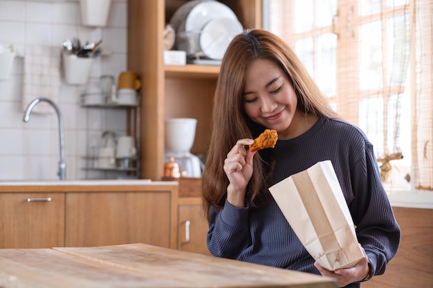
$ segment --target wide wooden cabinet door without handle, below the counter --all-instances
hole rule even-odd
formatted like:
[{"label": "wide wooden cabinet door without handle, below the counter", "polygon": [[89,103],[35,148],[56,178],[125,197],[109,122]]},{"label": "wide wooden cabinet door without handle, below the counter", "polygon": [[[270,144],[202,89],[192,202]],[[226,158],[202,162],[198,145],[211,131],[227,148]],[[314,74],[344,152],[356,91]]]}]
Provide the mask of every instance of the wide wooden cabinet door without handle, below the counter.
[{"label": "wide wooden cabinet door without handle, below the counter", "polygon": [[170,193],[68,193],[66,247],[145,243],[170,247]]}]

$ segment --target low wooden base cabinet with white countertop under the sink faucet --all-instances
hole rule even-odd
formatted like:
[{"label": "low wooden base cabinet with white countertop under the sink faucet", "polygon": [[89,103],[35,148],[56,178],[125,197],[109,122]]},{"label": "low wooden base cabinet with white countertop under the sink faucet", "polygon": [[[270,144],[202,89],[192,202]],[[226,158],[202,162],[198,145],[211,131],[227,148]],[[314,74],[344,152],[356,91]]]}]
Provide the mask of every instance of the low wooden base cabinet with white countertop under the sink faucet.
[{"label": "low wooden base cabinet with white countertop under the sink faucet", "polygon": [[176,182],[106,181],[0,185],[0,249],[138,242],[176,249]]}]

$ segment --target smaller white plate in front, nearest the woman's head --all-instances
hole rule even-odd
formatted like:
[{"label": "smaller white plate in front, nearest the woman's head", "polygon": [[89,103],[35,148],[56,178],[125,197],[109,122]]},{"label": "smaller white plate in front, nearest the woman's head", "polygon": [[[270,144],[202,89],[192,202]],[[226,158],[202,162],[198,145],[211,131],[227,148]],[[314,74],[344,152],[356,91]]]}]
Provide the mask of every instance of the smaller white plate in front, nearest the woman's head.
[{"label": "smaller white plate in front, nearest the woman's head", "polygon": [[200,47],[210,59],[223,59],[232,39],[243,31],[236,19],[215,18],[205,24],[200,36]]}]

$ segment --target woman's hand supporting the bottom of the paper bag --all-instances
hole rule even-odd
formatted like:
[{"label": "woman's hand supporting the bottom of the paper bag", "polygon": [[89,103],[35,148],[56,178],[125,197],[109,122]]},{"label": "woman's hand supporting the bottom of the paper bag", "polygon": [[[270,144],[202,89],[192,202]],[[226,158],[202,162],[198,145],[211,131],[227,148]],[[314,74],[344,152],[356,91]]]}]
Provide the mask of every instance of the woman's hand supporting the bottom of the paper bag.
[{"label": "woman's hand supporting the bottom of the paper bag", "polygon": [[367,258],[367,254],[362,247],[361,249],[365,257],[359,260],[359,262],[352,267],[329,271],[328,269],[324,269],[322,266],[320,266],[317,261],[314,263],[314,266],[320,271],[322,276],[335,278],[337,280],[338,286],[344,287],[346,285],[349,285],[350,283],[364,279],[369,273],[369,261]]}]

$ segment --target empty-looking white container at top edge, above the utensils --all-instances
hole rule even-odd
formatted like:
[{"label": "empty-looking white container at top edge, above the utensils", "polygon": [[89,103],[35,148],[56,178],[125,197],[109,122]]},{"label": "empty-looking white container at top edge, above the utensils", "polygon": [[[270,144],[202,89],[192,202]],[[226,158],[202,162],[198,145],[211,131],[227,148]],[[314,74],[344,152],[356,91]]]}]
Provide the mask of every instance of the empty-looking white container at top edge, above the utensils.
[{"label": "empty-looking white container at top edge, above the utensils", "polygon": [[111,0],[80,0],[82,24],[102,27],[107,24]]}]

